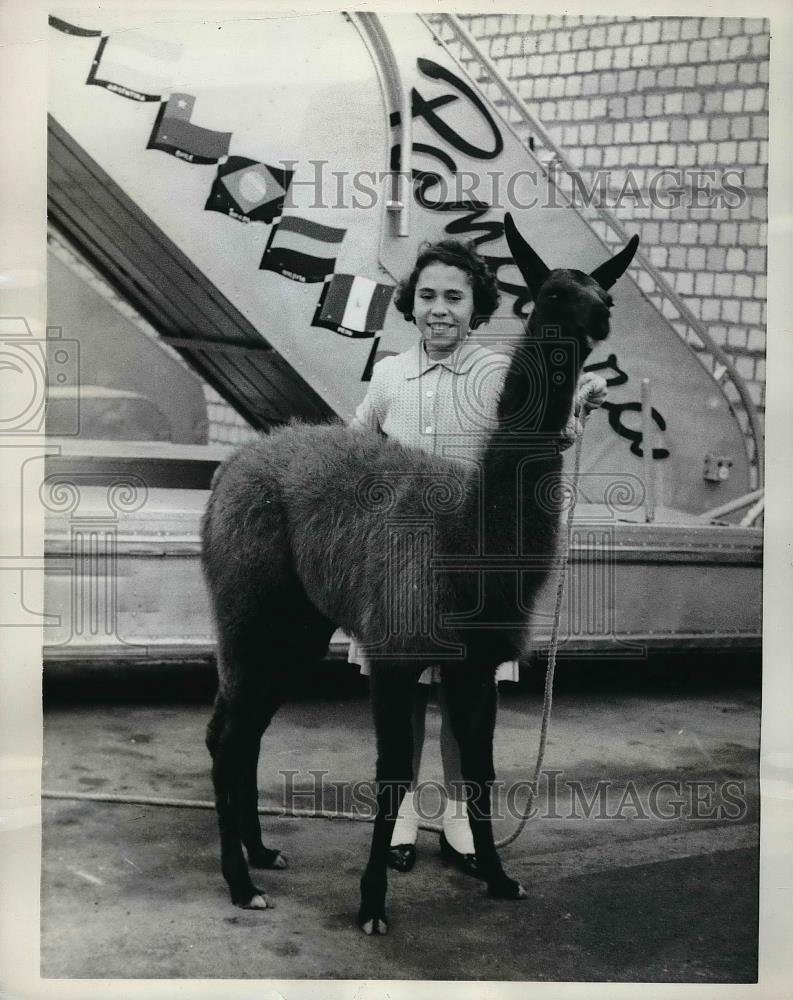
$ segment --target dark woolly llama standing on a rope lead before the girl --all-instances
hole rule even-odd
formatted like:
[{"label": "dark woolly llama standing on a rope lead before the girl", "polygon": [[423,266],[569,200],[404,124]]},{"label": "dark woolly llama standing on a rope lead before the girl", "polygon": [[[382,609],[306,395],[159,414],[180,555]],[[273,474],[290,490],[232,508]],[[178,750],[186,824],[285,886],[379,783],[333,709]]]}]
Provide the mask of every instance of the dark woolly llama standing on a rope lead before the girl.
[{"label": "dark woolly llama standing on a rope lead before the girl", "polygon": [[[221,868],[237,906],[268,905],[249,866],[287,866],[262,843],[261,737],[290,678],[324,656],[337,627],[374,650],[377,811],[358,925],[388,930],[387,851],[412,779],[411,703],[428,662],[441,663],[480,877],[491,896],[527,895],[502,867],[490,819],[495,670],[524,651],[527,615],[556,552],[560,434],[584,359],[609,332],[607,290],[638,238],[587,275],[550,270],[509,213],[504,225],[535,305],[478,466],[341,424],[293,423],[244,446],[213,481],[202,562],[219,686],[207,746]],[[389,524],[422,516],[432,544],[389,549]],[[428,627],[394,627],[394,608],[423,612]]]}]

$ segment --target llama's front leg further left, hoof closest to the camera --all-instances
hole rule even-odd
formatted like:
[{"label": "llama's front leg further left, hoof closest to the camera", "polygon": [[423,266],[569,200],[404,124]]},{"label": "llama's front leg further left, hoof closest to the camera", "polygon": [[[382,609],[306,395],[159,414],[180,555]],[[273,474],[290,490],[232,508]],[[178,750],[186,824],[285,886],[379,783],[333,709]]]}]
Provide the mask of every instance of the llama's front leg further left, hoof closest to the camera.
[{"label": "llama's front leg further left, hoof closest to the camera", "polygon": [[413,780],[412,703],[421,667],[374,664],[372,712],[377,734],[377,814],[369,860],[361,877],[358,926],[364,934],[387,934],[385,898],[388,848],[397,812]]}]

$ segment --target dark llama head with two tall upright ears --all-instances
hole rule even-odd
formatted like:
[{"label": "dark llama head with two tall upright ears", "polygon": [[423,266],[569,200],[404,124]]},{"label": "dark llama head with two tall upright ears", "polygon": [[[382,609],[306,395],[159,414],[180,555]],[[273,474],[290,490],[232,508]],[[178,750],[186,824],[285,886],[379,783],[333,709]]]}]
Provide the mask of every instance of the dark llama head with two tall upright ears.
[{"label": "dark llama head with two tall upright ears", "polygon": [[571,268],[549,268],[518,232],[509,212],[504,216],[504,233],[534,301],[529,332],[540,336],[544,328],[562,331],[579,340],[588,354],[608,336],[613,305],[608,290],[633,260],[639,237],[631,237],[618,254],[585,274]]}]

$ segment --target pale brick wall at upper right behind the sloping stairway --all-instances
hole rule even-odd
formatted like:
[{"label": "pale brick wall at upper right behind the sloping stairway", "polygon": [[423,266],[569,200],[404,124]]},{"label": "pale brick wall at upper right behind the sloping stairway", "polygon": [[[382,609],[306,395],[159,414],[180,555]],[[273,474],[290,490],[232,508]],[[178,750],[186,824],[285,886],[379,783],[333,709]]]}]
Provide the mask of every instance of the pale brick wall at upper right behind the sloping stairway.
[{"label": "pale brick wall at upper right behind the sloping stairway", "polygon": [[[739,207],[631,205],[642,238],[711,336],[765,399],[769,26],[761,18],[462,15],[580,171],[743,171]],[[465,59],[464,59],[465,61]],[[605,233],[605,230],[604,230]]]}]

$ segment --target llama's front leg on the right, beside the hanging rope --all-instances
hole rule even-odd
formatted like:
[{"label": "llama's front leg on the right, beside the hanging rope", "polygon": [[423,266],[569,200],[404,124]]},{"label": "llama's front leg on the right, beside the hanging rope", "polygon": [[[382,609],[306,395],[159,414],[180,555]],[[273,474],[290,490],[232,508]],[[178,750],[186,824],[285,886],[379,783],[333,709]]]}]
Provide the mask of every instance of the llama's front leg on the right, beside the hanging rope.
[{"label": "llama's front leg on the right, beside the hanging rope", "polygon": [[468,798],[474,850],[488,892],[498,899],[525,899],[526,890],[510,878],[496,851],[491,820],[493,733],[496,725],[495,670],[459,664],[444,667],[443,685]]}]

